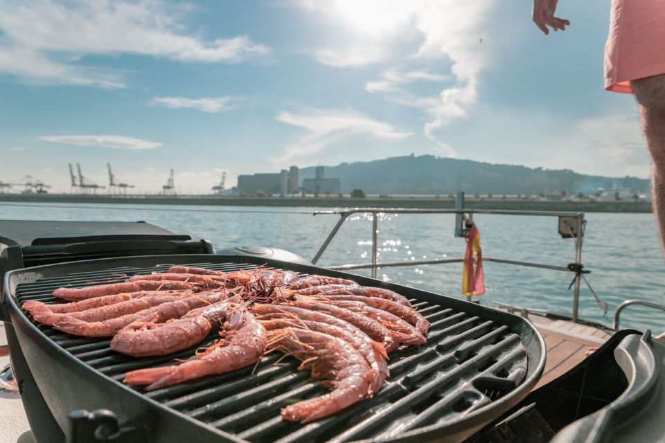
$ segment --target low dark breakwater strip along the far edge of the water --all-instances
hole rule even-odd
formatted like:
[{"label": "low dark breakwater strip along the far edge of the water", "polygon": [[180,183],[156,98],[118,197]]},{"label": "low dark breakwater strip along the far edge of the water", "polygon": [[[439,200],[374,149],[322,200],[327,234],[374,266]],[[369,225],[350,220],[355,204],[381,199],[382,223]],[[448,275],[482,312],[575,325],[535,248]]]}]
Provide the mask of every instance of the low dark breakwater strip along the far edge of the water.
[{"label": "low dark breakwater strip along the far edge of the water", "polygon": [[[41,204],[149,204],[195,206],[286,206],[325,208],[429,208],[453,209],[450,197],[392,196],[351,197],[231,197],[218,195],[73,195],[0,194],[1,202]],[[499,210],[556,210],[585,213],[650,213],[648,201],[566,201],[474,198],[467,196],[465,208]]]}]

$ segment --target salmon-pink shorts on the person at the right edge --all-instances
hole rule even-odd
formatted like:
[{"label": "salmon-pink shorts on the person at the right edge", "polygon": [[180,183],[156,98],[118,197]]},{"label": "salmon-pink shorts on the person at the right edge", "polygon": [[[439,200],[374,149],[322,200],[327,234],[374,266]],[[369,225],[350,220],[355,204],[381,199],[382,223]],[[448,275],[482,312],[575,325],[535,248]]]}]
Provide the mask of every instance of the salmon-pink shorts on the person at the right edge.
[{"label": "salmon-pink shorts on the person at the right edge", "polygon": [[665,0],[612,0],[605,89],[632,93],[630,80],[665,73]]}]

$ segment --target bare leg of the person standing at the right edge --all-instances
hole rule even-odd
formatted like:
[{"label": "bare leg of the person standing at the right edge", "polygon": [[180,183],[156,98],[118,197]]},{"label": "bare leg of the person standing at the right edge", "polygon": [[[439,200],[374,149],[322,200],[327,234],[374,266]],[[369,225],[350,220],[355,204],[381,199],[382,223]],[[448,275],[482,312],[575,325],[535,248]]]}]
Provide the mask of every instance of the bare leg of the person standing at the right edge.
[{"label": "bare leg of the person standing at the right edge", "polygon": [[665,75],[631,80],[642,134],[652,161],[651,195],[660,245],[665,255]]}]

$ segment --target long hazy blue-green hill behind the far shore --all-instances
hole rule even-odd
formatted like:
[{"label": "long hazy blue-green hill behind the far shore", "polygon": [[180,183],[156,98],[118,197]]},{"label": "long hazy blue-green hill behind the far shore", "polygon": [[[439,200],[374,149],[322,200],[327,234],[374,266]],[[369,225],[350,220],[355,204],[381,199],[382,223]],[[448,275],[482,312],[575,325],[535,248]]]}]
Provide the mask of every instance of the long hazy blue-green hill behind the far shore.
[{"label": "long hazy blue-green hill behind the far shore", "polygon": [[[649,182],[636,177],[600,177],[572,170],[546,170],[520,165],[497,165],[431,155],[401,156],[367,162],[326,166],[326,178],[339,178],[342,192],[362,189],[367,194],[447,195],[459,188],[468,194],[537,195],[583,192],[598,188],[627,188],[646,193]],[[314,167],[300,170],[300,178],[314,178]]]}]

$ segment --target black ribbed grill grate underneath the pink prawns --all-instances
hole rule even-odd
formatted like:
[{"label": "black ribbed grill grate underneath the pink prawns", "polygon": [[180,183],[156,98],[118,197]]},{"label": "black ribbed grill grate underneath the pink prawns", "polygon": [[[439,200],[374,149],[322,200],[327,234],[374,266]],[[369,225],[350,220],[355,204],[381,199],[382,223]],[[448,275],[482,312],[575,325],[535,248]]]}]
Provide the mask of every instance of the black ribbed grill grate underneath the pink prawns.
[{"label": "black ribbed grill grate underneath the pink prawns", "polygon": [[[111,282],[120,274],[166,271],[169,266],[123,266],[42,278],[19,284],[15,295],[19,305],[27,300],[60,302],[50,295],[57,287]],[[227,272],[257,267],[232,262],[188,266]],[[279,411],[286,404],[321,395],[327,389],[322,388],[319,381],[310,379],[308,371],[297,371],[299,362],[295,359],[289,357],[277,363],[281,357],[277,354],[265,356],[256,368],[244,368],[143,395],[248,442],[346,442],[391,439],[423,426],[459,422],[520,386],[526,375],[527,353],[520,336],[510,327],[428,301],[411,299],[411,303],[432,324],[427,343],[391,353],[391,377],[382,390],[333,417],[306,425],[281,419]],[[76,359],[118,382],[127,371],[168,364],[172,359],[193,355],[190,349],[169,356],[135,359],[112,351],[109,339],[73,337],[51,327],[35,325]],[[210,345],[216,337],[217,334],[211,334],[199,347]],[[136,390],[143,393],[141,388]]]}]

